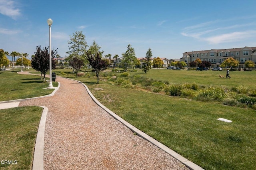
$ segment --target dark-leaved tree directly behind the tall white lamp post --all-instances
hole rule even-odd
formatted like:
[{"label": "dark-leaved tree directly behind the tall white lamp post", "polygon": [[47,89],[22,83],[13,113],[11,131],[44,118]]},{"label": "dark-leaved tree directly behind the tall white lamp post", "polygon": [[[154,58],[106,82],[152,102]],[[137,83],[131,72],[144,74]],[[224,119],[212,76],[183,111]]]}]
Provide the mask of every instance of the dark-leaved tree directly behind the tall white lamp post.
[{"label": "dark-leaved tree directly behind the tall white lamp post", "polygon": [[[52,50],[52,69],[55,69],[55,62],[54,57],[57,55],[57,50]],[[44,47],[41,49],[41,45],[36,47],[35,55],[31,59],[32,68],[41,72],[41,79],[42,75],[45,75],[47,71],[50,69],[50,54],[48,52],[48,48]]]}]

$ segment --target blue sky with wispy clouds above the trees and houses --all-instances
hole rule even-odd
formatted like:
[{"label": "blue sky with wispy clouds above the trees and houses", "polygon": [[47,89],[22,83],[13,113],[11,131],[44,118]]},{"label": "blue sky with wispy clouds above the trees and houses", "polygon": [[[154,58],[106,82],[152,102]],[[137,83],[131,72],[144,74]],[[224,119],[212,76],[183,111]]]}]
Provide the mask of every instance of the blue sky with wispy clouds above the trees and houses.
[{"label": "blue sky with wispy clouds above the trees and houses", "polygon": [[186,51],[256,46],[255,0],[0,0],[0,48],[33,55],[36,46],[65,57],[82,31],[105,54],[175,59]]}]

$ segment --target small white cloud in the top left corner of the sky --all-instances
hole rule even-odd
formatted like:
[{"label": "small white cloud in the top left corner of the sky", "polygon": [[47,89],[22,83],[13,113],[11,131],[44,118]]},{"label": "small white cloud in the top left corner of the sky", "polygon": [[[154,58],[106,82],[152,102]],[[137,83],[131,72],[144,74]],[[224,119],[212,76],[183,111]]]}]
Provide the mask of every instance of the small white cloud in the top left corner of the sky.
[{"label": "small white cloud in the top left corner of the sky", "polygon": [[0,0],[0,13],[14,20],[21,15],[20,9],[15,7],[13,0]]}]

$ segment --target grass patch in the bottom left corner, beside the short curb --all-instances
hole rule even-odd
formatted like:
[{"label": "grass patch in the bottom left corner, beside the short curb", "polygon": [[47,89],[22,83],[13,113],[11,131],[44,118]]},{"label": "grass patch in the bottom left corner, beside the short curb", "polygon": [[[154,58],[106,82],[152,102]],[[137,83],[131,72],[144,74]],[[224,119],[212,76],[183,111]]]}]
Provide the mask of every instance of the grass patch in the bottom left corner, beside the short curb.
[{"label": "grass patch in the bottom left corner, beside the short curb", "polygon": [[42,115],[41,107],[15,107],[0,110],[0,169],[32,169],[34,145]]}]

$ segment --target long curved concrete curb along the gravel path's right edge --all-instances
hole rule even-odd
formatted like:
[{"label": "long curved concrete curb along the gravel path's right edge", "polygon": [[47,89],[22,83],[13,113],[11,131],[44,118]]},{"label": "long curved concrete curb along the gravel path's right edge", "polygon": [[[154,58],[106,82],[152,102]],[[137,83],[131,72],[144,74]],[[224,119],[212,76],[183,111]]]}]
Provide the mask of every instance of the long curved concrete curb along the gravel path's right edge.
[{"label": "long curved concrete curb along the gravel path's right edge", "polygon": [[[64,77],[65,78],[65,77]],[[67,78],[69,79],[69,78]],[[70,80],[74,80],[74,79],[70,79]],[[177,160],[179,160],[180,162],[182,162],[182,164],[186,165],[188,168],[192,169],[192,170],[204,170],[203,168],[201,168],[200,166],[198,166],[197,164],[194,164],[193,162],[191,162],[190,160],[184,158],[183,156],[181,156],[180,154],[174,152],[173,150],[171,150],[170,148],[168,148],[167,146],[165,146],[164,144],[158,142],[157,140],[155,140],[154,138],[152,138],[151,136],[148,136],[146,133],[142,132],[141,130],[139,130],[138,128],[132,126],[130,123],[126,122],[124,119],[122,119],[121,117],[119,117],[118,115],[116,115],[114,112],[110,111],[107,107],[105,107],[104,105],[102,105],[95,97],[94,95],[92,95],[91,91],[88,89],[88,87],[82,83],[81,81],[78,80],[74,80],[77,81],[79,83],[81,83],[82,85],[84,85],[84,87],[86,88],[88,94],[90,95],[90,97],[92,98],[92,100],[98,105],[100,106],[102,109],[104,109],[106,112],[108,112],[112,117],[114,117],[114,119],[120,121],[123,125],[125,125],[126,127],[128,127],[130,130],[132,130],[132,132],[135,132],[138,136],[144,138],[145,140],[148,140],[148,142],[154,144],[155,146],[157,146],[158,148],[164,150],[165,152],[167,152],[168,154],[170,154],[171,156],[173,156],[174,158],[176,158]]]}]

